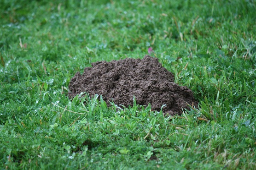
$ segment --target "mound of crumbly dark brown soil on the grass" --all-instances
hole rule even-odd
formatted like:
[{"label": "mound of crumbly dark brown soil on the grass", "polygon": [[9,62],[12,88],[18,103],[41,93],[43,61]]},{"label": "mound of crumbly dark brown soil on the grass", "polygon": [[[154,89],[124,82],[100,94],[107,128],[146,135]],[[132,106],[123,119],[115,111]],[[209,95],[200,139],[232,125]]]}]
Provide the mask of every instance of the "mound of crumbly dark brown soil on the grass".
[{"label": "mound of crumbly dark brown soil on the grass", "polygon": [[135,96],[137,104],[150,103],[152,110],[160,111],[166,104],[163,112],[170,115],[180,114],[181,108],[188,109],[187,104],[198,104],[192,91],[177,85],[174,75],[149,55],[142,60],[127,58],[92,63],[92,67],[86,67],[82,74],[76,73],[70,80],[69,89],[71,98],[81,92],[88,92],[90,96],[99,94],[109,106],[108,101],[132,106]]}]

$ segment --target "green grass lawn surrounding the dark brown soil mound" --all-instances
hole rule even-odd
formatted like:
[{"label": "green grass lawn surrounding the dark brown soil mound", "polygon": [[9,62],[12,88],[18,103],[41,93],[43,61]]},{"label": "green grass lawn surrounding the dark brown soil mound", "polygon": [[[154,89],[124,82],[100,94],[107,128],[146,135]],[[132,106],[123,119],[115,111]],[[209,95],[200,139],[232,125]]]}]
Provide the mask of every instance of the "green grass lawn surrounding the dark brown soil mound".
[{"label": "green grass lawn surrounding the dark brown soil mound", "polygon": [[[255,0],[1,0],[3,169],[256,169]],[[199,109],[67,97],[92,62],[154,49]],[[85,104],[83,104],[85,102]]]}]

